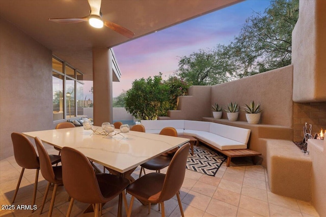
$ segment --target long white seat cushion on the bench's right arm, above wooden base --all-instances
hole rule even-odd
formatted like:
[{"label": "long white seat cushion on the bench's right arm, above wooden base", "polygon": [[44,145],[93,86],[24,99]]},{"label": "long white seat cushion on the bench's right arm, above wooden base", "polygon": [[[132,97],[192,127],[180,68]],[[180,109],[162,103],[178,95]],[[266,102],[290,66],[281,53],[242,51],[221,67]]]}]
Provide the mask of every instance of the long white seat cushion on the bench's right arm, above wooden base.
[{"label": "long white seat cushion on the bench's right arm, above wooden base", "polygon": [[204,131],[184,130],[184,135],[194,136],[220,150],[246,149],[247,144]]}]

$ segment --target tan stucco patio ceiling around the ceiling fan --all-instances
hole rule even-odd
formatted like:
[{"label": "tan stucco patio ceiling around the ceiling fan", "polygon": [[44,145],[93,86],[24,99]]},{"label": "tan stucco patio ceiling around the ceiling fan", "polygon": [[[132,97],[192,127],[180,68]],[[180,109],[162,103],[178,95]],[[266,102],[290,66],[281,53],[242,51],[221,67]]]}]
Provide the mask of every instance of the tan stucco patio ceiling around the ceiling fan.
[{"label": "tan stucco patio ceiling around the ceiling fan", "polygon": [[[131,39],[134,40],[241,1],[102,0],[101,12],[104,20],[122,25],[135,33]],[[89,11],[87,0],[0,1],[1,17],[82,71],[85,80],[92,80],[93,47],[114,47],[130,40],[110,28],[96,29],[87,22],[59,24],[47,20],[84,17]]]}]

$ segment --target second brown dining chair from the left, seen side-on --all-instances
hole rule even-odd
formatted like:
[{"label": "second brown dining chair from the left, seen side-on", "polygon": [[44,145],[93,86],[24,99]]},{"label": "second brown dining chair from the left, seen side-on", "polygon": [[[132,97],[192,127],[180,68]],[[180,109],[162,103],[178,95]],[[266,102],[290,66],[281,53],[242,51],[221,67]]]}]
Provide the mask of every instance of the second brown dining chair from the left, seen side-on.
[{"label": "second brown dining chair from the left, seen side-on", "polygon": [[39,152],[41,173],[42,173],[43,178],[45,180],[47,180],[47,185],[46,185],[46,189],[45,189],[45,193],[44,193],[44,197],[43,197],[40,214],[42,214],[42,212],[43,212],[44,204],[46,201],[47,193],[49,192],[50,185],[55,184],[55,186],[53,188],[52,199],[51,199],[49,213],[48,213],[48,216],[50,217],[52,215],[53,206],[55,205],[55,199],[56,199],[58,185],[63,184],[62,166],[52,167],[48,153],[45,150],[40,138],[35,137],[35,144],[37,147],[37,151]]}]

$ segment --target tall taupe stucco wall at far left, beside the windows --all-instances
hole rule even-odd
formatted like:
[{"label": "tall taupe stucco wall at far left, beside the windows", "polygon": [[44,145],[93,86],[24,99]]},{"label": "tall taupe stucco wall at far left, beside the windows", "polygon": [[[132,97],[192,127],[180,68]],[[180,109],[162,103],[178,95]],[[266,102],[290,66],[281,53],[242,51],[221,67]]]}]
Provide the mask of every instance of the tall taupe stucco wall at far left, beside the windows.
[{"label": "tall taupe stucco wall at far left, beside the windows", "polygon": [[11,133],[53,128],[52,53],[0,18],[0,159]]}]

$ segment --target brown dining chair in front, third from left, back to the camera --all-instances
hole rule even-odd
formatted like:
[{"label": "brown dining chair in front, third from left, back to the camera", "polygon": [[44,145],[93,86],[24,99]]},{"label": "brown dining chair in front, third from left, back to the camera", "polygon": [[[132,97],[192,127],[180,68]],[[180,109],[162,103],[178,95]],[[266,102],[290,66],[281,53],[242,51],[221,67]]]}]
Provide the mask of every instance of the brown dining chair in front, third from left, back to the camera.
[{"label": "brown dining chair in front, third from left, back to the camera", "polygon": [[73,148],[62,148],[63,183],[71,197],[67,216],[70,216],[74,200],[95,204],[95,216],[102,214],[102,204],[119,195],[118,215],[121,214],[122,198],[126,206],[127,200],[122,192],[129,185],[129,180],[122,176],[107,173],[95,174],[90,161],[85,155]]}]

